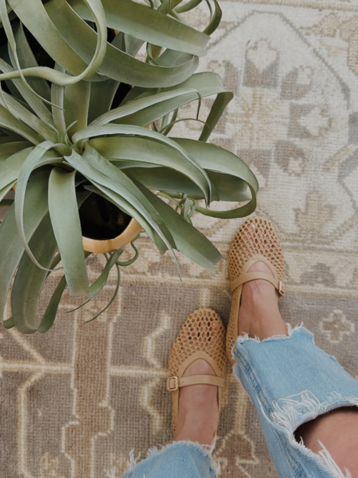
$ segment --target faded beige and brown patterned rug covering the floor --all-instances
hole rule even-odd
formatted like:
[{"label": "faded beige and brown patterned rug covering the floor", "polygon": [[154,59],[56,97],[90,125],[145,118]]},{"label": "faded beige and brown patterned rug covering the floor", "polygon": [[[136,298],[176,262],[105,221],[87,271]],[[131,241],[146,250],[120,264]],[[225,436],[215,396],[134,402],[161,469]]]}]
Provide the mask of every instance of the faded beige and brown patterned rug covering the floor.
[{"label": "faded beige and brown patterned rug covering the floor", "polygon": [[[304,321],[358,378],[358,2],[221,7],[201,69],[220,72],[235,98],[211,141],[257,174],[257,213],[273,222],[287,261],[284,318]],[[176,134],[198,131],[180,123]],[[115,275],[78,312],[66,314],[78,304],[66,295],[45,336],[1,329],[1,478],[103,478],[111,467],[120,477],[132,448],[143,456],[171,440],[169,350],[193,309],[211,306],[227,323],[226,257],[242,220],[196,222],[225,258],[215,276],[180,256],[180,283],[170,257],[142,237],[140,259],[100,319],[84,324],[108,301]],[[229,374],[224,405],[215,450],[222,476],[276,477],[253,405]]]}]

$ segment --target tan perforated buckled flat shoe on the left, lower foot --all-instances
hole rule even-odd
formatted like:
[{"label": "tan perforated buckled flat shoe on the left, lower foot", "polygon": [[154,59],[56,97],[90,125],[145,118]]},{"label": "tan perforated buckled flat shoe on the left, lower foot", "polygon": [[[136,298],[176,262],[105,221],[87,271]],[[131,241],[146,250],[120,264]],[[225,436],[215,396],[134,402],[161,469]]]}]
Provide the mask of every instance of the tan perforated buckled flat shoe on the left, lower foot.
[{"label": "tan perforated buckled flat shoe on the left, lower foot", "polygon": [[[217,326],[214,326],[213,323]],[[197,359],[206,360],[215,375],[190,375],[183,373]],[[187,385],[206,383],[218,387],[218,408],[220,413],[221,391],[224,386],[225,369],[225,328],[220,315],[211,309],[195,310],[189,315],[175,339],[169,358],[167,390],[173,399],[173,433],[177,428],[179,412],[179,389]],[[216,431],[214,436],[216,435]]]}]

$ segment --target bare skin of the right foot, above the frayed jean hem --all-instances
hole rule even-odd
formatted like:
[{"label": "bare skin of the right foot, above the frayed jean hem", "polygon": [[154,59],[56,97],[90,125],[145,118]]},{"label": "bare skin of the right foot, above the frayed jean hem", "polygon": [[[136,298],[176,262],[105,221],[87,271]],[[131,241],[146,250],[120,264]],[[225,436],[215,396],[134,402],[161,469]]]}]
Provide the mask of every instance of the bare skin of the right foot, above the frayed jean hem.
[{"label": "bare skin of the right foot, above the frayed jean hem", "polygon": [[[264,262],[256,262],[248,272],[265,272],[272,275]],[[274,286],[263,279],[246,282],[242,286],[239,310],[239,335],[263,340],[274,335],[288,335],[287,326],[278,310]]]}]

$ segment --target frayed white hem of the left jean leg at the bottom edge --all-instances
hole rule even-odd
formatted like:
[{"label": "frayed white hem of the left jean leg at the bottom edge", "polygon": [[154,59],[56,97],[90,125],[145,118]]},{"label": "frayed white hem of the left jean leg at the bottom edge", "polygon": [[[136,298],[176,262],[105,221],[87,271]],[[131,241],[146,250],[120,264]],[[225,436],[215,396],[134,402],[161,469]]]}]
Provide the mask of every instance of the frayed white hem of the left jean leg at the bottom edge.
[{"label": "frayed white hem of the left jean leg at the bottom edge", "polygon": [[[160,445],[160,450],[158,449],[157,446],[152,446],[151,448],[148,449],[147,451],[147,456],[143,459],[143,461],[152,458],[153,456],[156,455],[161,455],[163,454],[166,450],[169,448],[173,448],[175,446],[194,446],[197,450],[199,450],[204,456],[207,456],[210,459],[210,467],[212,470],[214,470],[216,476],[219,475],[220,473],[220,463],[216,460],[213,459],[212,457],[212,452],[215,448],[216,441],[218,439],[218,436],[215,436],[215,438],[212,440],[211,445],[201,445],[199,442],[191,442],[190,440],[180,440],[180,441],[173,441],[172,443],[169,443],[168,445]],[[125,472],[128,473],[128,471],[132,470],[134,467],[136,467],[140,463],[140,453],[138,456],[135,458],[134,457],[134,448],[129,452],[129,460],[127,461],[127,470]],[[115,468],[112,468],[111,474],[105,475],[105,478],[119,478],[116,477],[116,470]],[[143,478],[146,478],[145,476]]]}]

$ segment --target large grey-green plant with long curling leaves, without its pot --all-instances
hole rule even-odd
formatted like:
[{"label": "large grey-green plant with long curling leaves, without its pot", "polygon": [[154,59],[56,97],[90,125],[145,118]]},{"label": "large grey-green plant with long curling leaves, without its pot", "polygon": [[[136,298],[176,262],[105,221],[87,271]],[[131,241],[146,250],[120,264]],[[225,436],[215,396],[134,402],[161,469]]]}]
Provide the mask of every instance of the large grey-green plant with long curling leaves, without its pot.
[{"label": "large grey-green plant with long curling leaves, without its pot", "polygon": [[[0,205],[10,205],[0,227],[1,321],[13,280],[5,326],[45,332],[66,284],[94,299],[121,264],[122,250],[110,254],[89,285],[78,209],[90,194],[137,219],[160,253],[177,261],[179,250],[211,272],[221,255],[192,226],[193,212],[254,210],[253,173],[206,143],[232,99],[219,75],[194,74],[221,18],[217,1],[206,2],[210,22],[199,32],[181,15],[200,0],[0,0]],[[133,87],[116,105],[123,84]],[[209,95],[199,141],[169,138],[178,109]],[[248,202],[217,211],[212,200]],[[40,293],[60,261],[63,278],[38,326]]]}]

